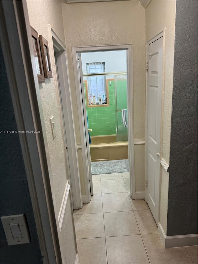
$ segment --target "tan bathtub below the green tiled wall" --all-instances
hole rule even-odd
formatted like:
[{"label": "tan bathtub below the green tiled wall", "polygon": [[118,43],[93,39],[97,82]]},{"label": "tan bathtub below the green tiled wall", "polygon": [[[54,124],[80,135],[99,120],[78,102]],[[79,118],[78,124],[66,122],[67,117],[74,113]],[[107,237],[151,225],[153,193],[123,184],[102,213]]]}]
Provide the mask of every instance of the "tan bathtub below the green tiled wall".
[{"label": "tan bathtub below the green tiled wall", "polygon": [[91,161],[128,159],[128,141],[116,142],[116,135],[91,136]]}]

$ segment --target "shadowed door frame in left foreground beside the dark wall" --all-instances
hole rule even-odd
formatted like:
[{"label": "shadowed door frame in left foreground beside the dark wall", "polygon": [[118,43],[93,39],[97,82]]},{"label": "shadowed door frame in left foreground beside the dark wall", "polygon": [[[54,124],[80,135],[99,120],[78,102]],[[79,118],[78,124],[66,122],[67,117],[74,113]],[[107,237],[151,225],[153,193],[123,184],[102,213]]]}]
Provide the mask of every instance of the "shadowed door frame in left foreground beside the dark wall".
[{"label": "shadowed door frame in left foreground beside the dark wall", "polygon": [[[0,2],[0,36],[44,263],[62,263],[51,167],[26,1]],[[49,162],[49,163],[48,163]]]}]

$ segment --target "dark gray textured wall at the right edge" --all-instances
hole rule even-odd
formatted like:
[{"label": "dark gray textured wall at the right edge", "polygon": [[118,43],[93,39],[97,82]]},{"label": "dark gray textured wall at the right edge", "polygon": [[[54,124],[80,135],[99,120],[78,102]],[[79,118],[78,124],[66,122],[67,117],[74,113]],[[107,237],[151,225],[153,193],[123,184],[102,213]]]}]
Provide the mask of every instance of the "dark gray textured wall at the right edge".
[{"label": "dark gray textured wall at the right edge", "polygon": [[197,233],[197,1],[177,1],[167,236]]}]

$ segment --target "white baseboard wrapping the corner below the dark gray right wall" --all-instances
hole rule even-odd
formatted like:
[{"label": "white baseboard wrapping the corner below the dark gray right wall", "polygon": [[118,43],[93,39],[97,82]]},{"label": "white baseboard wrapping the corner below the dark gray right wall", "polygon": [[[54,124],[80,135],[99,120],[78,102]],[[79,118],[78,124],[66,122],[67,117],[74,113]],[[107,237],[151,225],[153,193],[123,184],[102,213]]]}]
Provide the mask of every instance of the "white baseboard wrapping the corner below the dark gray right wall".
[{"label": "white baseboard wrapping the corner below the dark gray right wall", "polygon": [[158,233],[159,233],[161,242],[164,245],[165,249],[196,246],[198,244],[197,243],[198,234],[166,236],[160,223],[158,224]]}]

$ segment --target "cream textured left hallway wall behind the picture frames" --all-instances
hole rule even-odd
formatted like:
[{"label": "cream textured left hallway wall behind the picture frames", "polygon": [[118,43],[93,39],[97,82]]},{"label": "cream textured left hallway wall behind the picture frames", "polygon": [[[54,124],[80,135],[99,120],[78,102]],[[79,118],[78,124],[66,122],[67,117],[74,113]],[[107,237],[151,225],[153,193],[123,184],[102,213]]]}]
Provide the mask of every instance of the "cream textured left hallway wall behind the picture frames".
[{"label": "cream textured left hallway wall behind the picture frames", "polygon": [[[54,49],[51,35],[51,27],[64,43],[64,30],[62,22],[62,10],[60,1],[27,1],[30,25],[37,30],[39,35],[45,37],[49,45],[53,78],[45,79],[45,83],[39,84],[45,129],[49,148],[49,156],[53,182],[51,186],[55,193],[55,206],[58,215],[63,193],[68,179],[67,154],[62,124],[61,106],[58,92],[58,83],[55,68]],[[49,118],[54,116],[56,137],[53,139]],[[61,230],[61,248],[63,263],[75,263],[76,245],[73,216],[71,212],[70,195],[67,201],[66,211]],[[67,249],[67,252],[65,251]],[[72,260],[72,261],[71,261]]]}]

